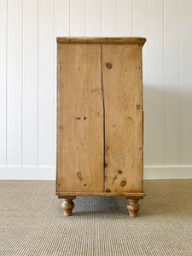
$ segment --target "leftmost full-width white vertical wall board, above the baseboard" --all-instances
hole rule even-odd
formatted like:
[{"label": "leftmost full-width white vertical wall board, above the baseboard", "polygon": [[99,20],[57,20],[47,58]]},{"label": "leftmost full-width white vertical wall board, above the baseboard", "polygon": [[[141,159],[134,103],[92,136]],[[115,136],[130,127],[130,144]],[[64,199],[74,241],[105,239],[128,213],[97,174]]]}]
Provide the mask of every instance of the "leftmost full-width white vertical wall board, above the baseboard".
[{"label": "leftmost full-width white vertical wall board, above the baseboard", "polygon": [[7,164],[21,165],[22,1],[8,3]]}]

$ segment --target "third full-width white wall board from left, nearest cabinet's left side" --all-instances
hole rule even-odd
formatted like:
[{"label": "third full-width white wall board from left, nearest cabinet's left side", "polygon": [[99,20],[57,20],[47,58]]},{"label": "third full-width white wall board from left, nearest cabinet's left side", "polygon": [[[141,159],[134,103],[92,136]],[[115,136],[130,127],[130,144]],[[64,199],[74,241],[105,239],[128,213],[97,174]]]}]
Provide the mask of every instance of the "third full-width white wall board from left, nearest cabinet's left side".
[{"label": "third full-width white wall board from left, nearest cabinet's left side", "polygon": [[38,164],[53,166],[54,1],[39,0]]}]

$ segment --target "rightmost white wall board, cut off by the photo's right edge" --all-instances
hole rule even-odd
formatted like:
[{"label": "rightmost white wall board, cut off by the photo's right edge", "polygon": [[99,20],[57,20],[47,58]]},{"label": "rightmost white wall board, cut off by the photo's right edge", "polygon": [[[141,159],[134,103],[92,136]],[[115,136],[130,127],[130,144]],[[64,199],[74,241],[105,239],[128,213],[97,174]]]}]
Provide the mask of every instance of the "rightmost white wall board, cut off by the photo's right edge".
[{"label": "rightmost white wall board, cut off by the photo's right edge", "polygon": [[192,162],[192,2],[183,0],[180,3],[180,108],[181,108],[181,165]]}]

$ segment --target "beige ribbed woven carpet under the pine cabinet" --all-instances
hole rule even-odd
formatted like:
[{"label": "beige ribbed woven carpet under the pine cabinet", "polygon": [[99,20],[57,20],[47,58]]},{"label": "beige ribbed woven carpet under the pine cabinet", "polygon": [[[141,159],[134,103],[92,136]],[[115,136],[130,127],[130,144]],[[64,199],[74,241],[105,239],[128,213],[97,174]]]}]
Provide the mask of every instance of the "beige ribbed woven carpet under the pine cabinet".
[{"label": "beige ribbed woven carpet under the pine cabinet", "polygon": [[145,181],[125,198],[78,197],[64,217],[53,181],[0,182],[0,255],[192,255],[192,180]]}]

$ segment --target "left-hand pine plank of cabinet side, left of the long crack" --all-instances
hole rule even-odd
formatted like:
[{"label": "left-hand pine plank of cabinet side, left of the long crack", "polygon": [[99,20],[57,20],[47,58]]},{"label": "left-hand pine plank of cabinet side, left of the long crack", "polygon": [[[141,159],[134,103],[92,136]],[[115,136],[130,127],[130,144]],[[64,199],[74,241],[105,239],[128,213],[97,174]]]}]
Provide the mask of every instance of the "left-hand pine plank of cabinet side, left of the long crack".
[{"label": "left-hand pine plank of cabinet side, left of the long crack", "polygon": [[103,191],[101,44],[58,44],[57,191]]}]

